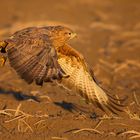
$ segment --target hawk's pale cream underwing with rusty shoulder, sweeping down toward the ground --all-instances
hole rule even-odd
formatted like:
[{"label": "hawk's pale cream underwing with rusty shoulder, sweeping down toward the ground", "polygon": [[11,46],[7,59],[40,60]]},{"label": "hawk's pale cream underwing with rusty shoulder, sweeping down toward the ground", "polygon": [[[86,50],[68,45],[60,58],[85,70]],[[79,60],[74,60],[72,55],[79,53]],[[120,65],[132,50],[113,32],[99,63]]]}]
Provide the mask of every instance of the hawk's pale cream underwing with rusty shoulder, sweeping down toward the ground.
[{"label": "hawk's pale cream underwing with rusty shoulder, sweeping down toward the ground", "polygon": [[58,62],[66,74],[67,79],[62,79],[59,84],[76,91],[87,102],[93,103],[103,111],[110,110],[113,113],[122,111],[122,105],[117,103],[117,99],[106,94],[96,83],[92,71],[88,68],[83,57],[70,46],[59,50]]}]

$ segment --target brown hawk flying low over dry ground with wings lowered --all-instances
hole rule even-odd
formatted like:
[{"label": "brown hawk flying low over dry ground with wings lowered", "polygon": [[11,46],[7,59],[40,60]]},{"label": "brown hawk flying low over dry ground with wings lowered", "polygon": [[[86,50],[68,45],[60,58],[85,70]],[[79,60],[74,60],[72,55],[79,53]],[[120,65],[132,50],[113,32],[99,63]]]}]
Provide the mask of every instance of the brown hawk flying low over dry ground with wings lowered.
[{"label": "brown hawk flying low over dry ground with wings lowered", "polygon": [[27,83],[43,85],[56,81],[104,112],[122,111],[123,105],[97,84],[83,55],[68,44],[75,36],[76,33],[63,26],[29,27],[2,41],[0,48]]}]

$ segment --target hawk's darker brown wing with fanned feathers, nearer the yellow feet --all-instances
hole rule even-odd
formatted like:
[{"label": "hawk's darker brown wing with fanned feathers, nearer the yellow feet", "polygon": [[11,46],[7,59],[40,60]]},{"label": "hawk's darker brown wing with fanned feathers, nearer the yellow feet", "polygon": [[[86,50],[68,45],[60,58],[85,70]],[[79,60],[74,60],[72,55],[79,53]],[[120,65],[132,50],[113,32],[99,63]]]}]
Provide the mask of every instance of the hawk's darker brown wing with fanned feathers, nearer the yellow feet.
[{"label": "hawk's darker brown wing with fanned feathers, nearer the yellow feet", "polygon": [[10,65],[29,84],[42,85],[65,76],[49,37],[37,28],[23,29],[6,41]]}]

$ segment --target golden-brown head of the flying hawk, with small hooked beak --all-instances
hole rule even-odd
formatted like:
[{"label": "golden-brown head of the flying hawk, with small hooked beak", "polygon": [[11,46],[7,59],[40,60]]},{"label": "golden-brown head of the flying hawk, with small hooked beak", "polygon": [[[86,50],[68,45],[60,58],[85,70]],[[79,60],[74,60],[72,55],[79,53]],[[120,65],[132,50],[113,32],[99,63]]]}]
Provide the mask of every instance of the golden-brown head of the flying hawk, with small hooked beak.
[{"label": "golden-brown head of the flying hawk, with small hooked beak", "polygon": [[49,30],[50,38],[57,46],[64,45],[77,36],[70,28],[64,26],[51,26]]}]

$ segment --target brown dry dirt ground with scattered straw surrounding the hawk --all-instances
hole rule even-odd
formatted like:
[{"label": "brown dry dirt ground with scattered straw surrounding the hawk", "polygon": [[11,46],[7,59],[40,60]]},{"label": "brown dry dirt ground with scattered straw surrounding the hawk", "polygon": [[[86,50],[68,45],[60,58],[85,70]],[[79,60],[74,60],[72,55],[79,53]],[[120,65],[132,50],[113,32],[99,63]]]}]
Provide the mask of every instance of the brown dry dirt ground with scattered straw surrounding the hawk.
[{"label": "brown dry dirt ground with scattered straw surrounding the hawk", "polygon": [[0,40],[58,24],[77,32],[70,44],[128,107],[106,116],[55,85],[27,85],[7,62],[0,67],[0,140],[140,140],[140,1],[1,0]]}]

